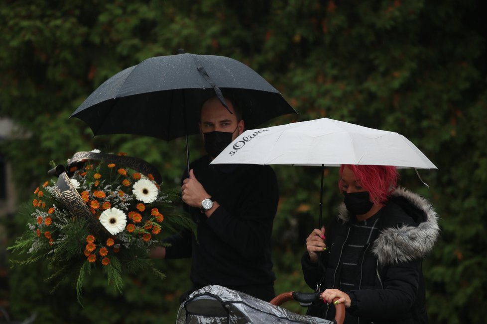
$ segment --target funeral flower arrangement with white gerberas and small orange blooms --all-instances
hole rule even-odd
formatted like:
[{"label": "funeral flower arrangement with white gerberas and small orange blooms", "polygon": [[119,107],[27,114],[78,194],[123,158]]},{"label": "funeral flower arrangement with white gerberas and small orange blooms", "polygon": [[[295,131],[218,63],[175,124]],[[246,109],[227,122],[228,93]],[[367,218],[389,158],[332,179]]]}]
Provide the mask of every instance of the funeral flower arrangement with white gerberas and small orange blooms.
[{"label": "funeral flower arrangement with white gerberas and small orange blooms", "polygon": [[179,192],[163,192],[157,170],[140,159],[78,152],[67,167],[49,173],[58,178],[36,188],[32,203],[24,206],[31,218],[9,247],[17,254],[11,261],[25,265],[47,259],[47,280],[71,278],[78,299],[93,269],[105,271],[119,292],[125,271],[148,269],[164,278],[149,258],[150,249],[164,246],[164,230],[194,230],[190,218],[175,213]]}]

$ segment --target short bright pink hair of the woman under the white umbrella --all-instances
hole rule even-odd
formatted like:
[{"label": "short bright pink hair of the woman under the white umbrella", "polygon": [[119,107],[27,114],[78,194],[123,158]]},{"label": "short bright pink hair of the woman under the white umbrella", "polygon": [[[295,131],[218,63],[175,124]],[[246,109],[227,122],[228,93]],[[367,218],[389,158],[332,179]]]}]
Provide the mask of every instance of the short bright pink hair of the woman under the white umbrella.
[{"label": "short bright pink hair of the woman under the white umbrella", "polygon": [[[383,206],[397,186],[399,174],[395,166],[342,164],[340,177],[345,166],[354,172],[357,182],[368,191],[375,205]],[[342,181],[338,181],[338,187],[342,190]]]}]

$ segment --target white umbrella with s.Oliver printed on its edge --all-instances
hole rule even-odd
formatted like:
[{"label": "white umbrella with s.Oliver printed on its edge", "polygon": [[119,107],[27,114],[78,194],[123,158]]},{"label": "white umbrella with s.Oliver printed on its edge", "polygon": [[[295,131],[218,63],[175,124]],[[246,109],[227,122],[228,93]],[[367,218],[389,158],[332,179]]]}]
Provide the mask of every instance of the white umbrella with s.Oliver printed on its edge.
[{"label": "white umbrella with s.Oliver printed on its edge", "polygon": [[329,118],[247,130],[211,162],[228,163],[323,167],[365,164],[437,169],[413,143],[398,133]]}]

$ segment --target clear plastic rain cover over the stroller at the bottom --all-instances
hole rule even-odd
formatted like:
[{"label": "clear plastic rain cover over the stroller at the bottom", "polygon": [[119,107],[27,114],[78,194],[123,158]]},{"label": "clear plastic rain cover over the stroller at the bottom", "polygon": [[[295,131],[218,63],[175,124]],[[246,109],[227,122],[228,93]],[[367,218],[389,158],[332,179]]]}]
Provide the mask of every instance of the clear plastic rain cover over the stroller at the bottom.
[{"label": "clear plastic rain cover over the stroller at the bottom", "polygon": [[250,323],[333,324],[320,318],[292,313],[222,286],[206,286],[194,291],[179,307],[176,320],[176,324]]}]

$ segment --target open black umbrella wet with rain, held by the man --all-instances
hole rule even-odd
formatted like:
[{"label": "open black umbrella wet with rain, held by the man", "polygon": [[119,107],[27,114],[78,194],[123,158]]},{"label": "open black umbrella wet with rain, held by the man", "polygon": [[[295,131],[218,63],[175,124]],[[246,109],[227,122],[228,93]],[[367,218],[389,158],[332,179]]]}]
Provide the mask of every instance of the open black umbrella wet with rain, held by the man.
[{"label": "open black umbrella wet with rain, held by the man", "polygon": [[[226,106],[222,91],[241,105],[246,128],[296,113],[277,89],[243,63],[187,53],[152,57],[117,73],[71,117],[85,121],[95,135],[172,140],[198,134],[203,102],[217,95]],[[187,160],[189,166],[189,156]]]}]

